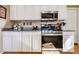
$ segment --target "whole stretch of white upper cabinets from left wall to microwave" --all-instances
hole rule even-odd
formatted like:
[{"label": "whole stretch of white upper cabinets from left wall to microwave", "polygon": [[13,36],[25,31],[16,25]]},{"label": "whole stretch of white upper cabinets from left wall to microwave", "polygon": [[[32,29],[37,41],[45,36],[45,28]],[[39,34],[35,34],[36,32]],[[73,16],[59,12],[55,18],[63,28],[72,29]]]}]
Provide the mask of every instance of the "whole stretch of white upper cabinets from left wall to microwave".
[{"label": "whole stretch of white upper cabinets from left wall to microwave", "polygon": [[40,7],[32,5],[10,6],[11,20],[38,20],[41,18]]}]

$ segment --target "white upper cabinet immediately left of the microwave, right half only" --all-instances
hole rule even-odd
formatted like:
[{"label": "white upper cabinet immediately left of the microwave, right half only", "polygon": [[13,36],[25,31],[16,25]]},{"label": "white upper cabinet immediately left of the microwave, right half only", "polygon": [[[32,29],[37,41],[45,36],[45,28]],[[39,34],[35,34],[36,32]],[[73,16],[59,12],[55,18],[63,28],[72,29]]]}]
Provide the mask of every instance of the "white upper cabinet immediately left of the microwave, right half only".
[{"label": "white upper cabinet immediately left of the microwave, right half only", "polygon": [[40,20],[41,19],[41,13],[40,13],[40,7],[39,6],[33,6],[33,5],[25,5],[24,6],[24,19],[25,20]]}]

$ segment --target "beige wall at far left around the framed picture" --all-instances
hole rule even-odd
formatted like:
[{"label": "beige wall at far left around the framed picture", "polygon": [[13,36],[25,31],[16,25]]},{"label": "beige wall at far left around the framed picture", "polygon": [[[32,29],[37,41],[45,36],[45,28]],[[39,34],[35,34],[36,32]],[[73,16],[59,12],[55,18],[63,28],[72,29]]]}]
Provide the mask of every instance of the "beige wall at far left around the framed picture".
[{"label": "beige wall at far left around the framed picture", "polygon": [[1,30],[2,28],[5,27],[6,23],[9,20],[9,16],[10,16],[10,6],[9,5],[3,5],[3,6],[7,8],[7,16],[6,16],[6,19],[0,18],[0,50],[2,47],[2,31]]}]

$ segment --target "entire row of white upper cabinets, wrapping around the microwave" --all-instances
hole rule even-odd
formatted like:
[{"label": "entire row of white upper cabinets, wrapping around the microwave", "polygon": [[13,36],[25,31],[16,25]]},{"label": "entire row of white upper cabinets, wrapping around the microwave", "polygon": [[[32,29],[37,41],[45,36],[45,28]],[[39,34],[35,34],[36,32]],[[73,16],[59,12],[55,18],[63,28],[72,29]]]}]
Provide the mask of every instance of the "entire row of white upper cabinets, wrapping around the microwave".
[{"label": "entire row of white upper cabinets, wrapping around the microwave", "polygon": [[11,5],[10,20],[41,20],[43,11],[58,11],[59,19],[66,19],[64,5]]}]

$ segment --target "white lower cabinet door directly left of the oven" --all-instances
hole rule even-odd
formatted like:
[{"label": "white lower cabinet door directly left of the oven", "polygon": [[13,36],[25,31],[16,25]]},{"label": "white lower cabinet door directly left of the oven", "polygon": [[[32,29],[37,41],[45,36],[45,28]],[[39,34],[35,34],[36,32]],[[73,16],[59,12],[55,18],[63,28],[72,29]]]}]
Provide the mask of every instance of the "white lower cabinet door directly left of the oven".
[{"label": "white lower cabinet door directly left of the oven", "polygon": [[41,52],[41,31],[32,33],[32,51]]}]

